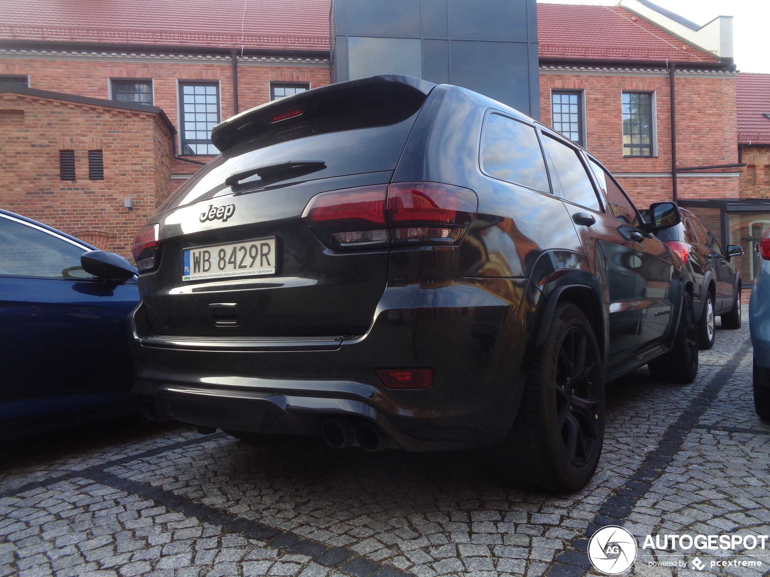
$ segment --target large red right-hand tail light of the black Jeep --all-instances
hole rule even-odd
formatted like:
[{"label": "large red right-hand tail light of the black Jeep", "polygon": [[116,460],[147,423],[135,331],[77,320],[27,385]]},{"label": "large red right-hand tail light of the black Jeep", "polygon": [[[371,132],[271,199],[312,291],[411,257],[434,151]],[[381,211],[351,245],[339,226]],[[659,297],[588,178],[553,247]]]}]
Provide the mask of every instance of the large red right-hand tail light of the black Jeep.
[{"label": "large red right-hand tail light of the black Jeep", "polygon": [[395,182],[323,192],[302,215],[333,248],[453,245],[476,215],[470,188],[437,182]]}]

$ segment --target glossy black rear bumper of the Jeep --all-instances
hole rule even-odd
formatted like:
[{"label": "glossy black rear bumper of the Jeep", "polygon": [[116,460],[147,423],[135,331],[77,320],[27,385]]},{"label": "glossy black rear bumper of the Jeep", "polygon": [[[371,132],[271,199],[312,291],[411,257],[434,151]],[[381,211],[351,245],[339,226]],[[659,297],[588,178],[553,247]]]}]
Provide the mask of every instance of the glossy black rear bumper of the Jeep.
[{"label": "glossy black rear bumper of the Jeep", "polygon": [[[158,337],[139,305],[133,393],[150,418],[216,429],[318,435],[324,419],[342,418],[376,424],[410,451],[489,445],[513,425],[526,342],[527,283],[496,280],[515,299],[470,284],[388,288],[370,331],[353,339]],[[443,306],[414,307],[421,298]],[[387,389],[374,372],[387,367],[429,367],[433,385]]]}]

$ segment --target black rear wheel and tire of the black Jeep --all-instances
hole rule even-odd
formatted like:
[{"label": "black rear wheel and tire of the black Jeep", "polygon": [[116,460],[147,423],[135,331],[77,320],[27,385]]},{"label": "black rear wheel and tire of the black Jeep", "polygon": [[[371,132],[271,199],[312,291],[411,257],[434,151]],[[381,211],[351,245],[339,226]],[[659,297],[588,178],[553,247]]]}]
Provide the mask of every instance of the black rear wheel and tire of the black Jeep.
[{"label": "black rear wheel and tire of the black Jeep", "polygon": [[591,323],[565,302],[531,356],[514,427],[493,459],[517,489],[568,493],[591,480],[603,441],[601,354]]}]

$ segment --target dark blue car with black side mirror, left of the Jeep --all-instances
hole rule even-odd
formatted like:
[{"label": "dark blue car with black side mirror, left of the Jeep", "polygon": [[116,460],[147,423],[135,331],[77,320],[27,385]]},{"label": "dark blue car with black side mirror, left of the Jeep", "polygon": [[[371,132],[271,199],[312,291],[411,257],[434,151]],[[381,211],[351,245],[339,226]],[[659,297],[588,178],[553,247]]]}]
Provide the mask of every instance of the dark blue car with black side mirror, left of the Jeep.
[{"label": "dark blue car with black side mirror, left of the Jeep", "polygon": [[0,210],[0,439],[136,411],[134,273],[119,255]]}]

